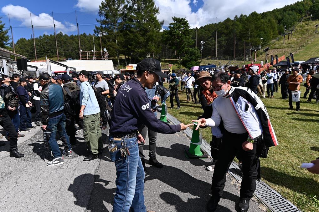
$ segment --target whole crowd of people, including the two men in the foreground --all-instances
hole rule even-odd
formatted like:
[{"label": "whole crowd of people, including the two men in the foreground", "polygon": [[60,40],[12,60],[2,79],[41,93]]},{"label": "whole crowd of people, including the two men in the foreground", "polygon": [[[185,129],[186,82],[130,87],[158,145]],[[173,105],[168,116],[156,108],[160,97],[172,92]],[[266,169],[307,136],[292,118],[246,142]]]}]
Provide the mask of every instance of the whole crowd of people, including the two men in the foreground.
[{"label": "whole crowd of people, including the two men in the foreground", "polygon": [[[289,109],[293,109],[292,92],[300,91],[303,82],[298,69],[285,69],[281,77],[276,69],[259,74],[257,66],[248,71],[216,70],[214,74],[193,71],[181,76],[172,73],[168,77],[161,71],[159,61],[146,58],[137,64],[136,70],[135,76],[125,73],[114,77],[99,71],[92,77],[85,70],[71,76],[42,73],[35,82],[33,77],[3,75],[0,78],[0,124],[7,132],[10,156],[23,157],[17,148],[18,137],[41,126],[44,132],[50,132],[48,144],[53,159],[48,166],[63,164],[63,155],[72,157],[72,145],[78,143],[75,135],[80,129],[88,147],[83,160],[91,161],[103,152],[101,131],[109,125],[108,149],[116,167],[113,211],[145,211],[144,144],[147,134],[149,163],[162,168],[163,164],[156,159],[157,133],[173,134],[194,123],[197,128],[211,127],[212,133],[213,161],[206,170],[214,173],[207,210],[216,210],[226,172],[237,157],[243,172],[237,207],[239,211],[247,211],[256,189],[255,181],[260,179],[259,157],[265,157],[267,148],[278,144],[260,98],[266,98],[266,91],[267,96],[273,98],[280,87],[282,99],[288,96]],[[310,91],[308,101],[316,99],[318,103],[319,80],[312,77],[313,74],[313,70],[307,73],[303,98],[307,98]],[[163,86],[165,78],[168,89]],[[174,108],[175,98],[177,109],[181,108],[178,91],[186,91],[187,101],[202,106],[203,114],[192,120],[192,124],[169,125],[157,119],[157,103],[166,104],[169,96],[170,107]],[[32,125],[33,108],[35,126]],[[296,110],[300,110],[300,101],[296,101]],[[62,140],[62,152],[56,134]],[[264,149],[257,148],[261,143]],[[319,165],[317,160],[313,163]]]}]

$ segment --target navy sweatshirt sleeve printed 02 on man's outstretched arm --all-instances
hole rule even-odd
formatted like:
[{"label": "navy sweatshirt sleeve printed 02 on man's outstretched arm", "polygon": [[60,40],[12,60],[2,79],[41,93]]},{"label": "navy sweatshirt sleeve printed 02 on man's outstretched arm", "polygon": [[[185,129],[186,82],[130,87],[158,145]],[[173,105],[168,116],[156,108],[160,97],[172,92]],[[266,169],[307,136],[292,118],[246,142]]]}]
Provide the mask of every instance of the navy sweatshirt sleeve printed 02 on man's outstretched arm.
[{"label": "navy sweatshirt sleeve printed 02 on man's outstretched arm", "polygon": [[163,121],[159,121],[152,112],[147,95],[138,95],[134,99],[134,107],[132,108],[138,118],[143,120],[146,127],[150,128],[154,132],[162,134],[173,134],[181,131],[181,125],[169,125]]}]

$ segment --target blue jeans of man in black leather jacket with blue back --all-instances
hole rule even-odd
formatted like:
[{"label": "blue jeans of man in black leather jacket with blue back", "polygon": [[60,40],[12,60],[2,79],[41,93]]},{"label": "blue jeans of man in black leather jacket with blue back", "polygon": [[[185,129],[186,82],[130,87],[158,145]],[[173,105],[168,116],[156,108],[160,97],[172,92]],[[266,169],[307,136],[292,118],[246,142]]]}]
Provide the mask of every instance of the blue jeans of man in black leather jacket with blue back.
[{"label": "blue jeans of man in black leather jacket with blue back", "polygon": [[65,115],[64,113],[56,118],[50,118],[47,128],[51,129],[51,135],[49,138],[49,144],[51,147],[53,157],[61,157],[61,151],[58,143],[56,142],[56,130],[58,130],[60,138],[62,140],[64,150],[69,151],[71,149],[69,136],[65,131]]}]

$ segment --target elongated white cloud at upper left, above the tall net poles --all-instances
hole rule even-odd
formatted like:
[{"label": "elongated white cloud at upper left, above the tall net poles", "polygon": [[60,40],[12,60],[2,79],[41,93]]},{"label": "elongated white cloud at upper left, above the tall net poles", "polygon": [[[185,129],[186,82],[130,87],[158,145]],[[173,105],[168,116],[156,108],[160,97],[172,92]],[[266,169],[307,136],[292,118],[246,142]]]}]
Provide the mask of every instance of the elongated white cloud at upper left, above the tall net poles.
[{"label": "elongated white cloud at upper left, above the tall net poles", "polygon": [[[12,4],[8,4],[1,8],[1,12],[4,14],[10,14],[10,18],[17,19],[21,21],[21,26],[31,26],[31,18],[30,11],[21,6],[15,6]],[[41,27],[41,29],[53,29],[53,18],[48,13],[40,13],[38,16],[31,13],[32,24],[35,27]],[[77,27],[74,24],[70,24],[69,22],[60,22],[54,20],[56,25],[56,31],[67,33],[73,32],[77,30]]]}]

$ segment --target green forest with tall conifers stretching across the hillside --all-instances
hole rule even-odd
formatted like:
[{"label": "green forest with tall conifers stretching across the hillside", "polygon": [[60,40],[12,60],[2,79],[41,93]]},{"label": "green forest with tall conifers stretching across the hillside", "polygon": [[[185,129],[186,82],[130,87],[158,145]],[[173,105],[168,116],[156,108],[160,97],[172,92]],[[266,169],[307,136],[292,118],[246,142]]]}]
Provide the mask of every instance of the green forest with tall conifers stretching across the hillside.
[{"label": "green forest with tall conifers stretching across the hillside", "polygon": [[[222,22],[211,23],[198,29],[190,29],[185,23],[185,18],[176,18],[168,29],[161,31],[163,22],[156,18],[158,13],[159,8],[153,0],[118,0],[116,4],[114,1],[105,0],[99,9],[101,20],[97,21],[100,26],[96,26],[92,34],[80,34],[81,49],[91,51],[94,36],[96,51],[100,51],[100,46],[107,48],[109,57],[115,61],[123,59],[120,55],[124,55],[125,59],[141,59],[148,55],[158,59],[183,60],[190,48],[194,49],[197,46],[197,49],[200,49],[200,41],[203,40],[205,41],[203,55],[218,59],[227,57],[234,59],[234,55],[242,58],[245,46],[248,52],[250,47],[263,48],[271,40],[293,30],[302,18],[310,14],[313,18],[319,18],[319,0],[303,0],[263,13],[253,11],[249,15],[241,14],[233,19],[227,18]],[[8,30],[3,30],[3,26],[0,19],[0,46],[12,49]],[[183,32],[186,33],[183,36],[187,36],[184,41],[178,40],[181,36],[179,27],[187,28]],[[102,45],[100,45],[100,35]],[[56,39],[60,58],[79,58],[77,34],[57,33]],[[185,43],[181,45],[178,42]],[[56,57],[54,34],[36,37],[35,45],[37,58]],[[34,59],[33,39],[17,40],[15,51],[30,60]],[[196,50],[198,57],[197,53],[198,50]]]}]

